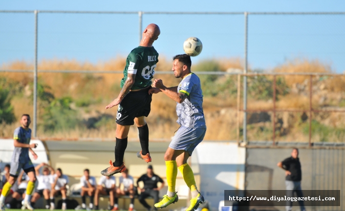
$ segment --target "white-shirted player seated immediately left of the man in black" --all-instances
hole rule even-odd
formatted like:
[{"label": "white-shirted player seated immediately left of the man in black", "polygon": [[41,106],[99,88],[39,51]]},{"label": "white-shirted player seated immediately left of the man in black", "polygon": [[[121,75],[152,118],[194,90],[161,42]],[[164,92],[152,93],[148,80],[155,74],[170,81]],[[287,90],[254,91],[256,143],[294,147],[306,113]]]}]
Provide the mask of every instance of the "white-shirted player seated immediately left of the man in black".
[{"label": "white-shirted player seated immediately left of the man in black", "polygon": [[[119,188],[117,188],[117,196],[126,195],[130,198],[129,211],[134,209],[134,186],[133,177],[128,174],[128,169],[121,173]],[[122,186],[122,187],[121,187]],[[117,198],[115,198],[117,205]]]}]

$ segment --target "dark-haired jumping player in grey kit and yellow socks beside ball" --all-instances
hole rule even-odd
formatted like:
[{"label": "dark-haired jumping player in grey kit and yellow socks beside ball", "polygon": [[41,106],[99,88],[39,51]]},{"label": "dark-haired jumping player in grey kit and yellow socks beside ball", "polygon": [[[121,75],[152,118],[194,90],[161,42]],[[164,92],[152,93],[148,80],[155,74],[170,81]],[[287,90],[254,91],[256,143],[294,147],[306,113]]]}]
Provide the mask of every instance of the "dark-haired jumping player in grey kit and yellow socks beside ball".
[{"label": "dark-haired jumping player in grey kit and yellow socks beside ball", "polygon": [[182,173],[183,179],[191,189],[192,199],[187,211],[194,211],[203,203],[204,197],[196,188],[192,168],[187,164],[194,148],[204,139],[206,123],[202,109],[203,95],[200,79],[191,72],[191,57],[187,54],[173,57],[173,74],[176,78],[182,78],[177,87],[167,88],[161,79],[153,82],[150,94],[163,92],[177,102],[177,123],[180,125],[173,137],[165,155],[167,166],[168,192],[163,200],[156,203],[156,208],[164,208],[178,201],[175,191],[177,168]]}]

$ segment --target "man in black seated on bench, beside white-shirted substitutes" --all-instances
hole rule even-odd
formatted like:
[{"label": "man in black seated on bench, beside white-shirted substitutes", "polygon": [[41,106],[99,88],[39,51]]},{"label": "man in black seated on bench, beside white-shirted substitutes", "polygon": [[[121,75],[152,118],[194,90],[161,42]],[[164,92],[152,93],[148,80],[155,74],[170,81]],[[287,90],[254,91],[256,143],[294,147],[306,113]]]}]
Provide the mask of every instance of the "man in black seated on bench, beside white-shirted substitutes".
[{"label": "man in black seated on bench, beside white-shirted substitutes", "polygon": [[[143,181],[144,188],[139,188],[139,182]],[[158,188],[157,183],[161,182],[162,185]],[[152,197],[154,199],[154,204],[158,202],[159,190],[164,187],[164,181],[158,175],[153,173],[152,165],[148,166],[148,171],[146,174],[143,174],[137,181],[136,186],[140,191],[139,201],[140,203],[148,210],[151,210],[151,206],[145,201],[147,197]],[[157,208],[154,208],[157,210]]]}]

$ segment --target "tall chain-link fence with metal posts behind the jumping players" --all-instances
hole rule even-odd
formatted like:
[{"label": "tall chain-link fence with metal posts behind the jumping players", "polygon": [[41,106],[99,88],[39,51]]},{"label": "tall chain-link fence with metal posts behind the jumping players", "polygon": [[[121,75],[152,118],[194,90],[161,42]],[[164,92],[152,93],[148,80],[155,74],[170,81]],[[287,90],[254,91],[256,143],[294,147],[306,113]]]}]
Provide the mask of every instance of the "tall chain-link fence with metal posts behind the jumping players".
[{"label": "tall chain-link fence with metal posts behind the jumping players", "polygon": [[[136,43],[141,39],[143,25],[169,16],[164,19],[167,25],[194,24],[178,24],[179,31],[166,27],[165,33],[172,36],[161,36],[160,42],[177,43],[180,37],[195,34],[212,36],[215,39],[205,45],[204,52],[214,53],[217,58],[224,54],[239,58],[208,60],[206,63],[199,61],[193,67],[193,71],[201,78],[205,95],[208,140],[273,140],[273,144],[276,141],[293,140],[309,141],[311,144],[313,141],[330,141],[329,137],[333,141],[345,138],[342,129],[344,125],[340,120],[345,106],[345,77],[344,74],[334,73],[345,69],[345,60],[342,59],[345,55],[345,41],[342,39],[345,29],[341,27],[345,23],[345,12],[36,10],[0,11],[0,15],[2,20],[8,20],[8,23],[2,24],[10,28],[6,31],[6,27],[2,27],[3,40],[11,36],[20,41],[16,47],[4,42],[1,50],[4,57],[8,54],[8,58],[25,58],[24,53],[32,50],[32,63],[6,63],[0,71],[4,78],[13,79],[2,83],[7,88],[16,87],[17,90],[8,91],[16,96],[13,101],[17,104],[25,101],[25,107],[17,106],[16,109],[22,112],[24,108],[26,111],[32,108],[35,137],[61,137],[69,128],[73,128],[74,132],[66,136],[114,137],[114,133],[109,132],[115,128],[113,116],[100,111],[105,103],[116,97],[114,93],[119,91],[118,84],[124,66],[121,59],[102,64],[76,64],[70,60],[65,63],[46,61],[44,56],[53,55],[52,51],[67,52],[66,55],[97,51],[97,47],[76,47],[78,42],[82,42],[79,37],[86,36],[90,42],[94,41],[95,46],[103,47],[103,50],[97,51],[98,55],[108,59],[109,55],[114,56],[110,52],[111,47],[123,43],[114,37],[127,37]],[[23,21],[16,21],[14,16],[22,16]],[[78,31],[78,21],[75,20],[80,19],[76,19],[77,16],[85,19],[89,27]],[[102,28],[99,25],[104,21],[108,22]],[[221,22],[223,27],[219,28],[214,24],[216,22]],[[68,33],[63,32],[62,28]],[[113,28],[117,29],[113,31]],[[33,40],[30,38],[32,35]],[[62,49],[59,45],[61,42],[67,42],[70,48]],[[222,50],[214,52],[212,47],[221,47]],[[117,52],[128,53],[121,50]],[[164,53],[175,54],[169,49]],[[303,60],[305,55],[320,57],[326,62]],[[284,62],[281,58],[285,56],[301,59]],[[277,61],[282,64],[277,66]],[[333,64],[330,65],[329,61]],[[276,67],[267,67],[267,64]],[[169,68],[169,65],[163,63],[155,76],[163,77],[168,84],[175,85],[178,81],[171,78],[169,71],[160,71]],[[18,84],[20,79],[27,83]],[[26,98],[20,99],[20,96]],[[156,127],[157,132],[153,135],[156,139],[168,139],[171,135],[167,133],[174,127],[171,120],[175,118],[174,105],[166,101],[164,97],[159,97],[156,102],[158,105],[152,108],[149,123]],[[10,130],[10,127],[4,125],[3,128]],[[61,132],[56,134],[52,131]]]}]

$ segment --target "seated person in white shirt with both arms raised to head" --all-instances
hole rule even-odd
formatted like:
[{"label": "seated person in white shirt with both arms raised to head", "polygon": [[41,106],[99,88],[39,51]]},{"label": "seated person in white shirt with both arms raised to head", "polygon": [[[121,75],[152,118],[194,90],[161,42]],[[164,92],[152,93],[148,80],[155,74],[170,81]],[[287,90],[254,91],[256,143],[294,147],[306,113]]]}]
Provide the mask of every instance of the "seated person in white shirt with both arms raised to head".
[{"label": "seated person in white shirt with both arms raised to head", "polygon": [[[43,174],[40,174],[40,168],[43,168]],[[31,206],[34,206],[37,200],[39,200],[42,196],[44,196],[44,199],[46,201],[45,208],[50,208],[50,177],[55,174],[54,168],[52,168],[50,165],[42,163],[35,167],[36,171],[36,178],[38,181],[38,186],[36,187],[36,191],[34,195],[31,198]]]}]

